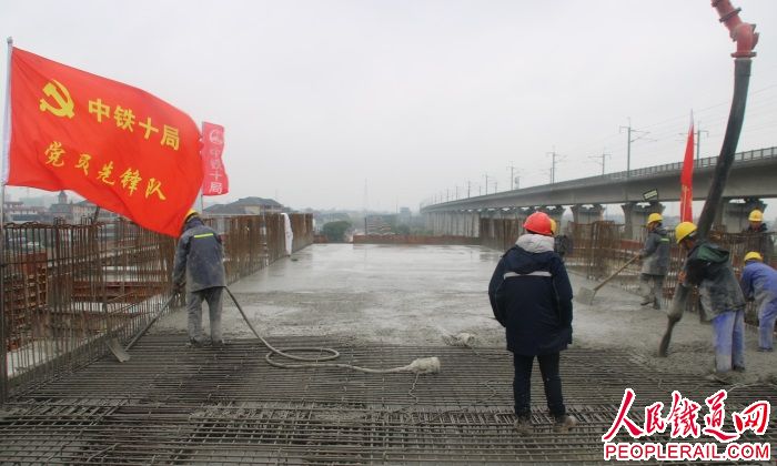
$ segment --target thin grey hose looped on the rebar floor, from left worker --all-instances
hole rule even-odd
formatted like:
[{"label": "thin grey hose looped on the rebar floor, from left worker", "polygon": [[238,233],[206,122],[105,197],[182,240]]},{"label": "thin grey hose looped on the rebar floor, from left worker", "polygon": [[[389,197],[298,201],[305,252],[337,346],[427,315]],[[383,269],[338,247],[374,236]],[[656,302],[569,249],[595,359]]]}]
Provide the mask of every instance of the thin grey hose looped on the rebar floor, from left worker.
[{"label": "thin grey hose looped on the rebar floor, from left worker", "polygon": [[[226,293],[230,295],[232,298],[232,302],[234,305],[238,307],[238,311],[240,311],[240,315],[243,316],[243,321],[249,325],[249,328],[251,328],[251,332],[259,338],[260,342],[264,346],[270,350],[270,353],[264,356],[264,359],[272,366],[275,367],[282,367],[282,368],[300,368],[300,367],[341,367],[341,368],[349,368],[353,371],[360,371],[360,372],[365,372],[367,374],[392,374],[392,373],[398,373],[398,372],[411,372],[414,374],[436,374],[440,372],[440,358],[437,357],[421,357],[412,363],[407,364],[406,366],[401,366],[401,367],[392,367],[387,369],[373,369],[369,367],[360,367],[360,366],[354,366],[351,364],[343,364],[343,363],[323,363],[326,361],[332,361],[340,357],[340,353],[335,350],[332,348],[325,348],[325,347],[317,347],[317,346],[300,346],[300,347],[292,347],[292,348],[285,348],[284,351],[278,350],[273,345],[271,345],[266,340],[262,337],[262,335],[256,332],[256,328],[253,327],[251,324],[251,321],[249,321],[249,316],[245,315],[245,312],[243,312],[243,307],[240,305],[238,302],[238,298],[234,297],[234,294],[232,294],[232,291],[228,287],[224,286],[224,290],[226,290]],[[320,352],[320,353],[330,353],[329,355],[321,355],[316,357],[303,357],[303,356],[295,356],[293,354],[289,354],[287,352]],[[283,364],[279,363],[276,361],[272,359],[273,354],[278,354],[279,356],[286,357],[289,359],[294,359],[294,361],[303,361],[305,364]]]}]

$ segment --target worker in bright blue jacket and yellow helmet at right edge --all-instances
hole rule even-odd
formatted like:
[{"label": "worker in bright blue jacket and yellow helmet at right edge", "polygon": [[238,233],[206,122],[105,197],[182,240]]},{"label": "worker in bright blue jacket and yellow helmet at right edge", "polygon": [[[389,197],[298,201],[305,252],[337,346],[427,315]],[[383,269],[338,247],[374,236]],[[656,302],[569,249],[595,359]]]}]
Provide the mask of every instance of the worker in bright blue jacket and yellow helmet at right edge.
[{"label": "worker in bright blue jacket and yellow helmet at right edge", "polygon": [[764,264],[760,253],[750,251],[745,254],[739,284],[745,297],[755,300],[758,307],[758,351],[773,352],[777,321],[777,271]]}]

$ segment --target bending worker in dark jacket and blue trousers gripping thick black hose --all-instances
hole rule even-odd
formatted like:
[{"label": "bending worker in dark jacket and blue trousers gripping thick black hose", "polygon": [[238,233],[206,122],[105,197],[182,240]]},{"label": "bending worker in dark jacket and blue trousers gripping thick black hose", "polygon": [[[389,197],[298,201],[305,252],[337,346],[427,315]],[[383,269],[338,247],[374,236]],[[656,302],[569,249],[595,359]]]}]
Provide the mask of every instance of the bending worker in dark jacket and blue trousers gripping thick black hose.
[{"label": "bending worker in dark jacket and blue trousers gripping thick black hose", "polygon": [[698,286],[702,318],[713,324],[715,346],[714,376],[745,369],[745,296],[741,293],[728,251],[698,241],[696,225],[682,222],[675,227],[675,240],[688,251],[679,282]]}]

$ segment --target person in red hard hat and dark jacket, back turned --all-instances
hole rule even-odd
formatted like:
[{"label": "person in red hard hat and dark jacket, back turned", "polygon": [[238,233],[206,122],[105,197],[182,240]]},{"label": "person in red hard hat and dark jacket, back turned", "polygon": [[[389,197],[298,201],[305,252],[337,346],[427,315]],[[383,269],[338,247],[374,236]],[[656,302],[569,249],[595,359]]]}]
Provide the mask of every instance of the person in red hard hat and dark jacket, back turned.
[{"label": "person in red hard hat and dark jacket, back turned", "polygon": [[521,235],[500,260],[488,284],[496,320],[506,328],[513,352],[515,428],[532,429],[531,377],[534,358],[545,384],[547,407],[555,429],[566,432],[577,421],[566,414],[558,373],[559,353],[572,343],[572,286],[562,259],[553,251],[551,219],[535,212]]}]

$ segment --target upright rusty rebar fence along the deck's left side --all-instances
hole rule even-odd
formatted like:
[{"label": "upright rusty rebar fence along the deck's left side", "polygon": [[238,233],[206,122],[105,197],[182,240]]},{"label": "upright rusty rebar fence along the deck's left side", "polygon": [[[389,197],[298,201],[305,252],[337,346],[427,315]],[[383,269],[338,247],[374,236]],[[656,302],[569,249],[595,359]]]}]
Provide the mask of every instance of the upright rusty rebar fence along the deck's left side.
[{"label": "upright rusty rebar fence along the deck's left side", "polygon": [[[224,236],[228,281],[285,254],[281,214],[205,219]],[[311,214],[291,214],[294,250],[313,242]],[[269,232],[269,233],[268,233]],[[168,301],[175,239],[127,220],[3,225],[0,404],[128,342]]]}]

